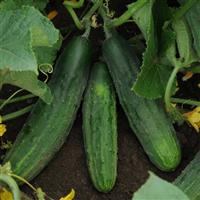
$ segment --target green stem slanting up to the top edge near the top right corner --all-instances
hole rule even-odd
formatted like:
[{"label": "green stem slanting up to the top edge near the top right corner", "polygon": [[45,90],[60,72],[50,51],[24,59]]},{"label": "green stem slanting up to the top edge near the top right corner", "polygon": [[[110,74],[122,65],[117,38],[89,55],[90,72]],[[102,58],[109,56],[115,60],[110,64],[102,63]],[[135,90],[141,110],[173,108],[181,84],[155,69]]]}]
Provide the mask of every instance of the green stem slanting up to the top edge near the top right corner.
[{"label": "green stem slanting up to the top edge near the top right corner", "polygon": [[188,10],[197,3],[198,0],[187,0],[185,3],[174,13],[173,19],[177,20],[183,17]]}]

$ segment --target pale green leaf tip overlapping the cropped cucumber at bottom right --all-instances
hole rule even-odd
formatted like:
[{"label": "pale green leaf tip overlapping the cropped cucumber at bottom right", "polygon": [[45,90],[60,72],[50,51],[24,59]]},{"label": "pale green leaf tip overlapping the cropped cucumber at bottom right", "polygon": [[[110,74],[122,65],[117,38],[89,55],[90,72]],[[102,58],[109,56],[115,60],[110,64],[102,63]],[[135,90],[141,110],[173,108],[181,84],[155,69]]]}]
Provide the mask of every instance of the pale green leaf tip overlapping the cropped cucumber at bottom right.
[{"label": "pale green leaf tip overlapping the cropped cucumber at bottom right", "polygon": [[189,200],[175,185],[150,173],[147,182],[134,194],[132,200]]}]

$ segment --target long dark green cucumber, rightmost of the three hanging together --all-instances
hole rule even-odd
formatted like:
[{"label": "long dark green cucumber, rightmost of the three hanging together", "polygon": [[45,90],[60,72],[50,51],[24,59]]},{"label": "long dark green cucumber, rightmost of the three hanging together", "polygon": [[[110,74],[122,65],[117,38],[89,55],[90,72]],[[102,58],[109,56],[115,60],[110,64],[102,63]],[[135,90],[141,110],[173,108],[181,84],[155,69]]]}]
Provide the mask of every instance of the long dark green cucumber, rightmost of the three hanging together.
[{"label": "long dark green cucumber, rightmost of the three hanging together", "polygon": [[128,42],[114,33],[103,43],[103,56],[120,104],[149,159],[162,171],[173,171],[181,160],[175,130],[158,101],[137,96],[132,90],[139,61]]}]

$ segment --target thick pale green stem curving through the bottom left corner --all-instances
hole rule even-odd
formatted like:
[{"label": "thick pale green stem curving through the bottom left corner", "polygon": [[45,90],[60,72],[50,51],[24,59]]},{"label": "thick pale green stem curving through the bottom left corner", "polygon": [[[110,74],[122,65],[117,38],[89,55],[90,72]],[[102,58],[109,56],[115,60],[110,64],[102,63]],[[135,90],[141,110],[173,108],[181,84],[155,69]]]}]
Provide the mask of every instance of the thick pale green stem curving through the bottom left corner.
[{"label": "thick pale green stem curving through the bottom left corner", "polygon": [[10,177],[6,174],[0,174],[0,182],[3,182],[7,186],[9,186],[9,188],[10,188],[12,194],[13,194],[14,200],[20,200],[21,199],[19,187],[12,177]]}]

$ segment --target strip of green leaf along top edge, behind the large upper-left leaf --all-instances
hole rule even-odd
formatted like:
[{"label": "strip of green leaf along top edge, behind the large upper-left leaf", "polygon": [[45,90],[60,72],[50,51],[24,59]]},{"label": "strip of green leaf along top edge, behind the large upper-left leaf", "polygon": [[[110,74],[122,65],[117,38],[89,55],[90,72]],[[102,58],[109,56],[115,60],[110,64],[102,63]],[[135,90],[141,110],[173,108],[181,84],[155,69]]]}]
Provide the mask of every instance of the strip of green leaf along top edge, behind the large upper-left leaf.
[{"label": "strip of green leaf along top edge, behind the large upper-left leaf", "polygon": [[22,6],[34,6],[39,10],[44,10],[49,0],[3,0],[0,2],[0,9],[18,9]]}]

